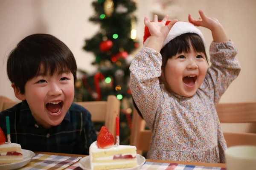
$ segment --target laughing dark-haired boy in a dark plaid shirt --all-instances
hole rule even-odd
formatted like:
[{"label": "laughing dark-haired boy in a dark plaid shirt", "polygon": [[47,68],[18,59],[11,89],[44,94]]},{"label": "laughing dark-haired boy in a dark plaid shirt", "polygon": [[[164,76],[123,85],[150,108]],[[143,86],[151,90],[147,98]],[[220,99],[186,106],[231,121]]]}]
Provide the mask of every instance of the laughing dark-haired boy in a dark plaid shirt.
[{"label": "laughing dark-haired boy in a dark plaid shirt", "polygon": [[73,103],[76,60],[70,49],[49,34],[21,40],[9,54],[7,74],[21,103],[0,113],[6,133],[23,149],[89,154],[96,133],[90,113]]}]

